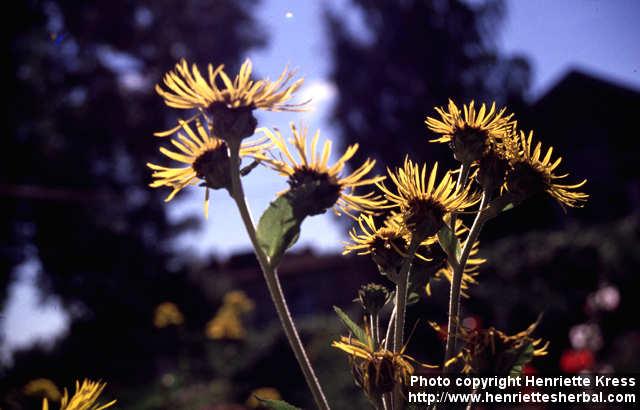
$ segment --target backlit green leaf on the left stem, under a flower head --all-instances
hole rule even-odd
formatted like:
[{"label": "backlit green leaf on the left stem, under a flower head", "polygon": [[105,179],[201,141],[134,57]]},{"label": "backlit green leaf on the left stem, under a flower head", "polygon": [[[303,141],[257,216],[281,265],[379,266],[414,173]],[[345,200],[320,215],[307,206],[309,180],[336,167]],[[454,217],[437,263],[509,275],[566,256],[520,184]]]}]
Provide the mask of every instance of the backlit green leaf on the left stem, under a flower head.
[{"label": "backlit green leaf on the left stem, under a flower head", "polygon": [[302,219],[295,216],[287,195],[281,195],[269,204],[258,222],[258,242],[269,256],[271,266],[277,267],[284,252],[300,236]]}]

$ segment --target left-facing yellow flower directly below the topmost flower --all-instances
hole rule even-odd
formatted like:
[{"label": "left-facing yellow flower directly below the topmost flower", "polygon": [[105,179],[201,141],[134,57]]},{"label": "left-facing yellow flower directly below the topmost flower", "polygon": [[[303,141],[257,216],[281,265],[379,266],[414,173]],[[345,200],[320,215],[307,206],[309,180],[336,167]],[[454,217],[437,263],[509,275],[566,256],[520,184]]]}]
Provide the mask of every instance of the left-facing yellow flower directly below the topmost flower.
[{"label": "left-facing yellow flower directly below the topmost flower", "polygon": [[[180,126],[184,134],[179,132],[177,137],[171,139],[171,144],[178,151],[161,147],[160,152],[187,166],[172,168],[147,163],[147,166],[154,171],[151,175],[154,181],[149,186],[152,188],[163,186],[171,188],[171,193],[165,199],[165,202],[169,202],[184,187],[203,182],[206,187],[204,212],[207,216],[209,188],[228,188],[231,183],[227,144],[214,135],[210,126],[205,128],[200,120],[196,120],[197,133],[185,121],[180,120]],[[248,142],[240,148],[240,157],[256,156],[268,148],[269,144],[264,138]]]}]

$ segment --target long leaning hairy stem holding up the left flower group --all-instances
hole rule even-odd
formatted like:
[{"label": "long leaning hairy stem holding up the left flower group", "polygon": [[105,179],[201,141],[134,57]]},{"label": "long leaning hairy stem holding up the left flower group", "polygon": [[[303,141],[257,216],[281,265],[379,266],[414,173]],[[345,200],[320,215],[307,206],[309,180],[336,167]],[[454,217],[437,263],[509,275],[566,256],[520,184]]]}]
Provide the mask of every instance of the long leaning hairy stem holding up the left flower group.
[{"label": "long leaning hairy stem holding up the left flower group", "polygon": [[291,312],[289,312],[289,307],[287,306],[287,302],[282,291],[282,286],[280,284],[277,271],[271,266],[269,257],[264,253],[264,251],[260,247],[260,243],[258,242],[256,229],[253,224],[253,219],[251,218],[251,212],[249,211],[249,207],[245,200],[242,181],[240,180],[239,148],[239,143],[229,144],[231,196],[238,206],[240,216],[242,217],[244,226],[247,230],[247,233],[249,234],[249,238],[251,239],[253,250],[256,254],[256,257],[258,258],[258,262],[260,263],[262,273],[264,274],[264,279],[267,282],[267,288],[269,289],[271,300],[276,307],[276,311],[278,312],[278,317],[280,318],[280,322],[282,323],[284,333],[289,340],[291,349],[293,350],[293,353],[298,360],[298,364],[302,369],[302,373],[304,374],[304,378],[307,381],[307,385],[309,386],[309,389],[313,394],[313,399],[316,402],[316,406],[318,406],[320,410],[329,410],[329,403],[325,398],[322,387],[320,386],[320,382],[318,381],[318,378],[316,377],[313,367],[309,362],[309,358],[307,357],[304,347],[302,346],[300,335],[298,334],[295,324],[293,323],[293,317],[291,316]]}]

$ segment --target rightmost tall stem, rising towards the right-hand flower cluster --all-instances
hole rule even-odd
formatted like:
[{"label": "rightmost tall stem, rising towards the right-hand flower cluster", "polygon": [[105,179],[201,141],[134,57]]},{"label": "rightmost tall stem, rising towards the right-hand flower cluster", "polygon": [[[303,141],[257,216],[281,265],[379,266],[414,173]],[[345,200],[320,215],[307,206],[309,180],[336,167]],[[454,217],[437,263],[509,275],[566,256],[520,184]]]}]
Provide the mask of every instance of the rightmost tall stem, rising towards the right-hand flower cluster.
[{"label": "rightmost tall stem, rising towards the right-hand flower cluster", "polygon": [[[462,288],[462,276],[464,273],[464,268],[467,265],[467,260],[469,259],[469,254],[471,253],[471,249],[473,249],[473,244],[478,239],[480,235],[480,231],[484,223],[487,220],[485,214],[485,207],[489,202],[489,194],[485,191],[482,193],[482,199],[480,200],[480,207],[478,209],[478,213],[476,214],[476,218],[473,221],[473,225],[471,226],[471,230],[469,231],[469,235],[467,236],[467,241],[462,248],[462,253],[460,255],[460,260],[453,266],[453,278],[451,280],[451,292],[449,294],[449,320],[447,322],[447,346],[444,355],[444,363],[447,363],[452,357],[454,357],[456,352],[456,342],[458,337],[458,323],[460,316],[460,294]],[[444,372],[448,373],[451,367],[445,367]]]}]

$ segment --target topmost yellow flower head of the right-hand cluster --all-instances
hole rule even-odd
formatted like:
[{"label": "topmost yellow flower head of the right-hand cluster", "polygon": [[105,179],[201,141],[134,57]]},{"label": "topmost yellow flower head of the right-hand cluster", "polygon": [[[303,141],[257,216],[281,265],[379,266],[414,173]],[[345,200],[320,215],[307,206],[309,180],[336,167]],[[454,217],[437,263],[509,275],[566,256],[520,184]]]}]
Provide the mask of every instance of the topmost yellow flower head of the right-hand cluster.
[{"label": "topmost yellow flower head of the right-hand cluster", "polygon": [[496,111],[495,103],[487,110],[482,104],[476,112],[474,102],[464,104],[462,111],[449,100],[448,111],[435,108],[441,119],[427,117],[425,123],[429,129],[441,136],[431,142],[448,142],[455,158],[463,163],[479,160],[493,145],[508,135],[515,123],[513,114],[505,115],[506,108]]}]

